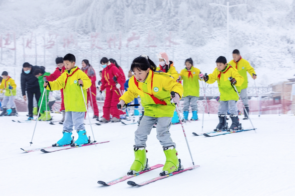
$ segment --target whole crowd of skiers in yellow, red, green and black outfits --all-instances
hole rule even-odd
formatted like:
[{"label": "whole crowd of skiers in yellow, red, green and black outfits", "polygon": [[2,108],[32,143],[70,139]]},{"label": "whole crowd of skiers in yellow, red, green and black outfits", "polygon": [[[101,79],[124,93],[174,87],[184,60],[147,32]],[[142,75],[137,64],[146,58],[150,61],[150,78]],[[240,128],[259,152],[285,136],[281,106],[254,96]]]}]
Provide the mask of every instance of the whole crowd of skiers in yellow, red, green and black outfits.
[{"label": "whole crowd of skiers in yellow, red, green and black outfits", "polygon": [[[171,124],[179,123],[180,120],[184,122],[189,120],[190,107],[192,111],[190,120],[198,120],[197,100],[199,99],[200,82],[210,84],[217,81],[218,83],[219,123],[215,131],[228,129],[226,123],[228,114],[232,120],[228,130],[240,129],[237,109],[239,95],[245,106],[244,119],[248,119],[247,72],[253,79],[256,79],[256,73],[250,63],[241,57],[237,49],[232,52],[232,55],[233,60],[229,63],[224,56],[219,56],[216,60],[216,68],[209,75],[201,73],[194,66],[191,58],[185,60],[185,67],[178,73],[173,61],[169,60],[165,52],[158,54],[158,66],[147,55],[141,55],[133,60],[127,81],[116,60],[103,57],[100,61],[103,70],[99,73],[101,80],[98,83],[96,83],[94,68],[89,61],[83,59],[80,69],[76,65],[76,58],[73,54],[56,58],[57,68],[51,74],[45,72],[42,66],[32,66],[26,62],[23,64],[21,74],[21,88],[24,100],[28,101],[28,120],[33,120],[33,115],[37,115],[37,111],[40,113],[37,120],[51,120],[48,105],[50,91],[60,90],[63,137],[54,146],[73,143],[74,125],[78,133],[78,139],[74,145],[83,145],[89,143],[83,124],[86,117],[86,103],[91,103],[94,111],[93,118],[101,123],[115,123],[126,118],[124,107],[133,100],[137,104],[137,98],[140,97],[144,112],[142,112],[140,124],[135,131],[135,145],[133,146],[135,161],[128,174],[134,175],[148,168],[147,151],[145,150],[147,136],[153,125],[157,124],[157,138],[166,156],[166,163],[161,174],[167,175],[182,168],[177,157],[176,144],[170,137],[169,129]],[[0,89],[5,89],[5,96],[1,103],[3,110],[1,116],[15,115],[17,113],[14,103],[16,84],[6,71],[2,73],[2,77]],[[99,119],[96,94],[102,91],[105,91],[106,98],[103,115]],[[172,96],[171,92],[175,94],[173,93]],[[35,108],[33,107],[34,97],[38,103]],[[175,107],[180,99],[184,100],[183,119],[180,119]],[[11,113],[7,112],[8,102]],[[121,105],[121,108],[117,105]],[[135,110],[133,115],[139,115],[138,110]]]}]

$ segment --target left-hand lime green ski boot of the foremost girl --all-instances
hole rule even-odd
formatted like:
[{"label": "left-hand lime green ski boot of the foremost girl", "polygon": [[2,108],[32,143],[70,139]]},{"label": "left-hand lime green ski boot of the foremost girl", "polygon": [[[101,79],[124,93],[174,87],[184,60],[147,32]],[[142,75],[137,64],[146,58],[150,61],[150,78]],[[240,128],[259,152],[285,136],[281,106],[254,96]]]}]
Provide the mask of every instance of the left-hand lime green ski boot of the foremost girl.
[{"label": "left-hand lime green ski boot of the foremost girl", "polygon": [[145,147],[137,147],[135,145],[133,147],[135,160],[132,163],[130,170],[127,172],[127,175],[134,175],[140,171],[144,171],[150,168],[150,166],[148,165],[147,151],[145,150]]}]

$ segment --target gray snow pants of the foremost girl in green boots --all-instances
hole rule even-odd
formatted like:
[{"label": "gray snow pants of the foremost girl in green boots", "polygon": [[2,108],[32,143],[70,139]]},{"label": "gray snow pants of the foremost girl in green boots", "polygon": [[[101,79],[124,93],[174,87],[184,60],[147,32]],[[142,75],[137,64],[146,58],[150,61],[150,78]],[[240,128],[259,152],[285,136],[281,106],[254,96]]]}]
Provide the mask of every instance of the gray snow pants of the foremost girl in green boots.
[{"label": "gray snow pants of the foremost girl in green boots", "polygon": [[148,135],[153,128],[153,125],[157,123],[157,139],[160,141],[160,144],[163,147],[174,146],[176,148],[176,144],[172,141],[169,133],[169,129],[171,127],[172,117],[151,117],[151,116],[143,116],[140,124],[135,131],[135,146],[146,147],[145,142],[148,140]]}]

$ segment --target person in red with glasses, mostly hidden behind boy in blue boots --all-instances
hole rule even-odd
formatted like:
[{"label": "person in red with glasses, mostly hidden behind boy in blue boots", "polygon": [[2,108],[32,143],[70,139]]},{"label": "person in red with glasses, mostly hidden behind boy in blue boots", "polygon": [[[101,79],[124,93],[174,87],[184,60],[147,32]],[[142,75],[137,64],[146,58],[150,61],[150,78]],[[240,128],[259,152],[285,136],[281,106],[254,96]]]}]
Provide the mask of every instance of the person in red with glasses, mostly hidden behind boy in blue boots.
[{"label": "person in red with glasses, mostly hidden behind boy in blue boots", "polygon": [[[47,81],[50,81],[50,82],[55,81],[63,72],[65,72],[63,57],[57,57],[55,59],[55,63],[57,68],[55,68],[55,71],[52,74],[50,74],[50,76],[45,76]],[[63,102],[63,89],[60,89],[60,93],[61,93],[60,111],[63,113],[63,118],[61,119],[60,124],[63,124],[62,122],[65,120],[65,104]]]}]

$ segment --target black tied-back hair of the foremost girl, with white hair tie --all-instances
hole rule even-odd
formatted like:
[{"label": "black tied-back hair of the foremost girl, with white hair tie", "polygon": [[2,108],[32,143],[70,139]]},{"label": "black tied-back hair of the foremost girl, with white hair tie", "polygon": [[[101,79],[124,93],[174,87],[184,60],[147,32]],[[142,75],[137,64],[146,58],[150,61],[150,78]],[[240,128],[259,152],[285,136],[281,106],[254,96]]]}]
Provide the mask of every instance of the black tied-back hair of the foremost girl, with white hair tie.
[{"label": "black tied-back hair of the foremost girl, with white hair tie", "polygon": [[143,54],[132,61],[130,71],[134,72],[134,69],[146,71],[148,68],[156,71],[157,66],[146,54]]}]

